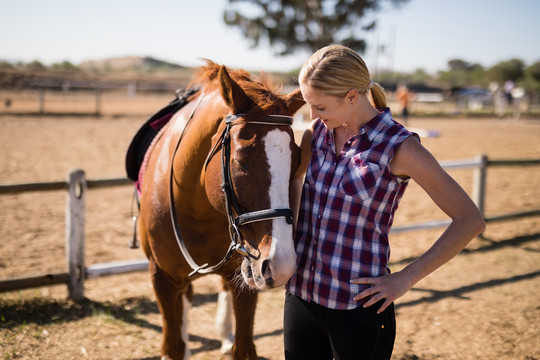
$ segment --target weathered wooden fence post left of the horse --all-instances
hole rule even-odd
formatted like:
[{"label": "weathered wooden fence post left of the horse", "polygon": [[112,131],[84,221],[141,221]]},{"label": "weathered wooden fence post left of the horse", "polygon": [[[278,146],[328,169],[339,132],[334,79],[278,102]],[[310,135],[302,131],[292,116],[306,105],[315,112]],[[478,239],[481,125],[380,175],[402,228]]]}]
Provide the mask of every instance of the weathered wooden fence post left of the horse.
[{"label": "weathered wooden fence post left of the horse", "polygon": [[86,177],[83,170],[76,169],[68,175],[66,205],[66,256],[69,275],[68,292],[74,301],[84,299],[84,224]]}]

